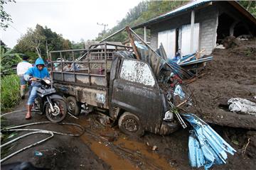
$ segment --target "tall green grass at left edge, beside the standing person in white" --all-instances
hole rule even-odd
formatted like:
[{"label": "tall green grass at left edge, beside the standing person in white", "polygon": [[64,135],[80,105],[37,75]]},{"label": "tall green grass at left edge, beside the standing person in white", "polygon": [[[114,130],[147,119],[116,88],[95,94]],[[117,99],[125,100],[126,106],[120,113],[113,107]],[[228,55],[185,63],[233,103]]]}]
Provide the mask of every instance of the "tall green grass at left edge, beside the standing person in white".
[{"label": "tall green grass at left edge, beside the standing person in white", "polygon": [[21,101],[19,79],[16,74],[1,77],[1,111],[8,111]]}]

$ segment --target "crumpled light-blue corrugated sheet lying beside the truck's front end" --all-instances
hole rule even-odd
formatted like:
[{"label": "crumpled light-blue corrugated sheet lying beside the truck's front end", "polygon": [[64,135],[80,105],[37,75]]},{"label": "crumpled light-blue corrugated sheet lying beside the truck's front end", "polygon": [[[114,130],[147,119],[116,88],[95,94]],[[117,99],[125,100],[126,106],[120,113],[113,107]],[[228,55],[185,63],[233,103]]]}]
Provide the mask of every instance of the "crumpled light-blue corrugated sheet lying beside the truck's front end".
[{"label": "crumpled light-blue corrugated sheet lying beside the truck's front end", "polygon": [[193,114],[182,114],[193,130],[188,138],[188,157],[191,166],[210,168],[213,164],[225,164],[228,154],[236,151],[223,140],[210,125]]}]

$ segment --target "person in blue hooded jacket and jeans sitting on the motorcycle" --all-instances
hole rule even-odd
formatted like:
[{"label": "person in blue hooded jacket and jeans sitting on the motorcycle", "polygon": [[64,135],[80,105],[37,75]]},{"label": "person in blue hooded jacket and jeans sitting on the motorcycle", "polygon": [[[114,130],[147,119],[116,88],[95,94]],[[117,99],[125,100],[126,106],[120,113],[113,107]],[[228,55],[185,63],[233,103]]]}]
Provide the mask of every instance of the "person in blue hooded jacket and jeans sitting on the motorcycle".
[{"label": "person in blue hooded jacket and jeans sitting on the motorcycle", "polygon": [[29,68],[28,71],[24,74],[24,79],[26,81],[32,81],[31,94],[28,97],[28,103],[27,103],[28,113],[26,113],[26,119],[31,118],[31,108],[37,96],[36,91],[41,86],[41,83],[37,82],[36,79],[43,79],[45,77],[50,77],[50,74],[48,73],[48,70],[45,67],[45,63],[43,62],[43,59],[41,57],[38,57],[38,59],[35,62],[35,66]]}]

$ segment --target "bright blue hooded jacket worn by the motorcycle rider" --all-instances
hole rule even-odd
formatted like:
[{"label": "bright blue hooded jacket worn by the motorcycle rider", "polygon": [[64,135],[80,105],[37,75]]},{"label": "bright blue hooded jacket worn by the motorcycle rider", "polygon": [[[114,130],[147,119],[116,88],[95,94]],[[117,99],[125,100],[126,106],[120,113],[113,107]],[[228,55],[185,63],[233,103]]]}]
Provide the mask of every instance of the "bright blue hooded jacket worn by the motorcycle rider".
[{"label": "bright blue hooded jacket worn by the motorcycle rider", "polygon": [[[29,68],[28,71],[26,71],[26,73],[24,74],[24,79],[26,81],[28,81],[30,77],[36,77],[39,79],[43,79],[45,77],[50,77],[46,67],[44,67],[42,70],[39,70],[36,67],[37,65],[41,65],[41,64],[44,65],[44,62],[43,62],[43,59],[41,57],[39,57],[35,62],[35,66]],[[32,86],[41,86],[41,84],[38,82],[33,82],[31,85]]]}]

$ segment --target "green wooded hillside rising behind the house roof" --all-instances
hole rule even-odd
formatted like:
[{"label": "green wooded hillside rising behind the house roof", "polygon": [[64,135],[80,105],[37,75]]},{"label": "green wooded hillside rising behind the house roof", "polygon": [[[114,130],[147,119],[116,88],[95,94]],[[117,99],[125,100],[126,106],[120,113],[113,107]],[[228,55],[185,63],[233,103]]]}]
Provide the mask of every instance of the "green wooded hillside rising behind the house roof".
[{"label": "green wooded hillside rising behind the house roof", "polygon": [[[130,9],[127,16],[123,18],[122,21],[119,21],[117,26],[114,26],[114,28],[108,30],[106,33],[99,33],[95,40],[102,40],[125,26],[133,27],[139,23],[149,21],[149,19],[171,11],[174,8],[178,8],[178,6],[186,4],[187,2],[188,1],[142,1],[134,8]],[[137,33],[143,35],[143,30],[137,30]],[[113,38],[110,38],[110,41],[123,42],[126,39],[126,33],[119,33]]]}]

